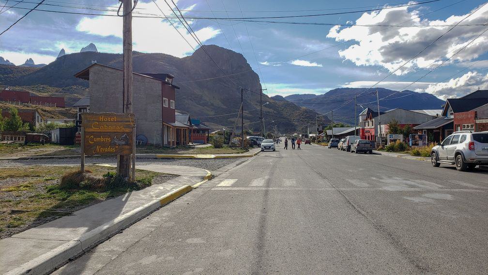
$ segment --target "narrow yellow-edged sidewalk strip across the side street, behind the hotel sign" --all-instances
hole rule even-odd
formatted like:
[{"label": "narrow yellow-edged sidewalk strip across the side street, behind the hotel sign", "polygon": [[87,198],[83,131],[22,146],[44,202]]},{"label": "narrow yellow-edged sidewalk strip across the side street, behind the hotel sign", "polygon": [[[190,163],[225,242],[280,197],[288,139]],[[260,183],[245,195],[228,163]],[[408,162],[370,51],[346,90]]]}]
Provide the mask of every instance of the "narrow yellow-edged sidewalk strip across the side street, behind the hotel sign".
[{"label": "narrow yellow-edged sidewalk strip across the side street, behind the hotel sign", "polygon": [[[237,159],[251,158],[261,152],[260,148],[255,148],[242,154],[136,154],[136,159]],[[102,157],[101,155],[85,156]],[[0,157],[0,160],[36,160],[36,159],[74,159],[80,155],[72,156],[25,156],[25,157]]]}]

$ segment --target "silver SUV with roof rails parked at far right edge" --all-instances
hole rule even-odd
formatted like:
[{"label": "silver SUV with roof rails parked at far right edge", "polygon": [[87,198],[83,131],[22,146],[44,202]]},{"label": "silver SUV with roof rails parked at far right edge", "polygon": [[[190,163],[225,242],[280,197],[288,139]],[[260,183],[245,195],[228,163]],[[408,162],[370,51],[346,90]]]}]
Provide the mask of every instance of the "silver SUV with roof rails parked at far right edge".
[{"label": "silver SUV with roof rails parked at far right edge", "polygon": [[476,165],[488,164],[488,131],[454,132],[430,152],[432,166],[441,163],[455,165],[458,171],[473,169]]}]

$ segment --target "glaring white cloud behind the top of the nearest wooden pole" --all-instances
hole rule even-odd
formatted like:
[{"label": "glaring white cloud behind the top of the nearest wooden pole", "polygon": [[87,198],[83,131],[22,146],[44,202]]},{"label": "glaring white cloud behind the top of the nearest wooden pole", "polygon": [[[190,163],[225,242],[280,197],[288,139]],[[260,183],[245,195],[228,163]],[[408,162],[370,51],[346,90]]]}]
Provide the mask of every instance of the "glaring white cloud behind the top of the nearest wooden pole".
[{"label": "glaring white cloud behind the top of the nearest wooden pole", "polygon": [[[163,0],[156,1],[160,7],[165,6]],[[146,10],[158,11],[153,2],[143,3],[139,2],[138,7]],[[190,6],[190,9],[194,5]],[[188,8],[185,8],[188,9]],[[103,26],[103,27],[101,27]],[[181,25],[176,25],[180,33],[185,39],[194,47],[198,44],[192,39],[191,35],[187,33],[186,29]],[[78,23],[76,29],[92,35],[99,36],[115,36],[122,38],[122,18],[119,17],[84,17]],[[195,29],[196,35],[202,43],[220,34],[220,30],[213,27],[203,27]],[[165,19],[159,18],[133,18],[132,21],[132,42],[133,49],[141,52],[163,52],[177,57],[183,57],[193,52],[193,49],[181,38],[178,32]],[[97,45],[98,47],[98,45]],[[122,45],[117,47],[109,47],[109,52],[122,51]],[[99,49],[104,51],[103,48]]]}]

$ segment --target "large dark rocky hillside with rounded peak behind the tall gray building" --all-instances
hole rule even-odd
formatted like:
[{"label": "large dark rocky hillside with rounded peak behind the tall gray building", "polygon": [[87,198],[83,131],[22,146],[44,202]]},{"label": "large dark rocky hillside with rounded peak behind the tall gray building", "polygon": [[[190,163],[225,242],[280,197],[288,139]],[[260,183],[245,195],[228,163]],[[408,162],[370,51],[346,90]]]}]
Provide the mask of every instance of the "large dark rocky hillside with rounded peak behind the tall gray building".
[{"label": "large dark rocky hillside with rounded peak behind the tall gray building", "polygon": [[[205,46],[215,62],[226,74],[234,74],[229,78],[237,86],[250,90],[261,88],[259,76],[251,69],[242,54],[215,46]],[[8,78],[4,83],[12,86],[25,87],[31,91],[49,86],[48,89],[59,88],[60,92],[66,92],[69,87],[80,87],[74,93],[81,97],[85,94],[83,87],[88,87],[88,81],[75,78],[73,75],[90,66],[92,61],[97,63],[122,68],[122,55],[100,52],[80,52],[63,55],[47,66],[36,69],[28,74],[22,74],[15,78]],[[183,58],[174,57],[163,53],[134,52],[133,69],[135,72],[146,73],[171,73],[175,75],[174,84],[181,87],[176,94],[176,108],[179,112],[198,116],[213,116],[235,113],[241,105],[241,89],[236,87],[229,78],[213,64],[204,54],[203,49],[197,49],[192,55]],[[216,76],[224,76],[215,78]],[[194,81],[207,78],[215,78],[205,81]],[[54,94],[53,94],[54,95]],[[263,95],[263,103],[269,104],[263,107],[266,121],[269,118],[275,120],[280,131],[292,132],[304,123],[315,120],[316,113],[312,110],[301,108],[295,104],[270,100]],[[71,103],[72,104],[72,103]],[[244,111],[259,107],[259,94],[245,92]],[[284,118],[291,118],[293,120]],[[202,117],[202,121],[217,123],[224,126],[234,125],[236,115]],[[296,119],[296,120],[295,120]],[[259,111],[244,113],[244,122],[259,120]],[[259,123],[249,124],[251,130],[259,129]]]}]

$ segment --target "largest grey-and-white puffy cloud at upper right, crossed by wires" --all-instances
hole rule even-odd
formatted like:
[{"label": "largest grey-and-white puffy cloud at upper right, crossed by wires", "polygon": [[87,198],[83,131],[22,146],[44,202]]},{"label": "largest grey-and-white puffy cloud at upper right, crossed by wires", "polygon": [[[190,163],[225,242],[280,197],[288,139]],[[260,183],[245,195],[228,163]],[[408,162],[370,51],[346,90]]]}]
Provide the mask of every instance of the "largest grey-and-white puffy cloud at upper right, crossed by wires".
[{"label": "largest grey-and-white puffy cloud at upper right, crossed by wires", "polygon": [[[378,24],[394,25],[401,24],[422,24],[428,27],[385,27],[385,26],[351,26],[341,28],[334,26],[330,29],[327,37],[336,41],[354,41],[355,45],[349,46],[344,50],[339,50],[339,55],[350,60],[358,66],[381,66],[389,71],[400,67],[403,63],[420,52],[424,47],[429,45],[450,26],[454,25],[465,18],[466,15],[450,16],[446,20],[420,20],[416,18],[418,11],[409,11],[408,7],[398,7],[379,12],[364,13],[356,24]],[[488,5],[485,5],[462,24],[484,24],[488,21]],[[432,46],[429,46],[422,54],[413,59],[410,63],[398,70],[396,74],[405,74],[416,68],[425,68],[430,63],[438,59],[445,59],[454,52],[465,46],[468,41],[481,33],[486,26],[457,26]],[[368,35],[372,33],[371,35]],[[373,34],[374,33],[374,34]],[[456,55],[454,60],[469,61],[475,59],[488,51],[483,46],[488,40],[487,35],[481,36],[474,41],[460,54]],[[431,66],[435,66],[434,63]]]}]

